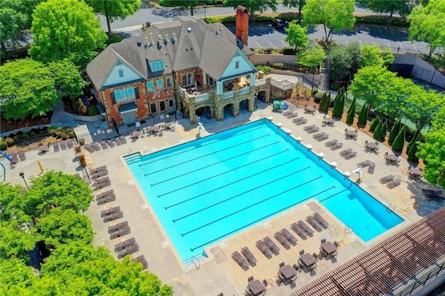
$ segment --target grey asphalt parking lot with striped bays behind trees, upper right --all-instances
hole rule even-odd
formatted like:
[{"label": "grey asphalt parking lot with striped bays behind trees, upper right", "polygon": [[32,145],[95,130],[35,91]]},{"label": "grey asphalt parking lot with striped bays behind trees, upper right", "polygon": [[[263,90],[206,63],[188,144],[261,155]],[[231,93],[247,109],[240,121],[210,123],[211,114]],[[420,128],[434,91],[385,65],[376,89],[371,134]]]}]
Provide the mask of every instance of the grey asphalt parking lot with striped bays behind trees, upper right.
[{"label": "grey asphalt parking lot with striped bays behind trees, upper right", "polygon": [[[235,32],[235,26],[227,26],[230,31]],[[311,40],[323,39],[323,26],[309,28],[309,38]],[[268,23],[251,24],[249,26],[248,46],[253,49],[281,48],[289,44],[284,41],[286,31],[275,29]],[[334,33],[332,37],[337,43],[349,44],[359,42],[360,44],[378,44],[383,49],[390,48],[393,52],[410,54],[428,54],[428,44],[426,42],[410,42],[408,40],[407,28],[396,28],[389,26],[373,26],[357,24],[353,31],[342,30]]]}]

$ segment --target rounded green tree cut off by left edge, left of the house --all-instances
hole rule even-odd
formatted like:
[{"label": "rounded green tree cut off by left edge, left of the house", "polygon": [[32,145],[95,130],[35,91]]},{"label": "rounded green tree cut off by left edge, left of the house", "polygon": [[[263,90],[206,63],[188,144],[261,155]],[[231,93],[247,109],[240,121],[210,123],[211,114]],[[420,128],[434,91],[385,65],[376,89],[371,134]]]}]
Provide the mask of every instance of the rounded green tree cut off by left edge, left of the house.
[{"label": "rounded green tree cut off by left edge, left of the house", "polygon": [[25,58],[0,67],[0,101],[3,116],[18,120],[44,115],[59,101],[55,79],[48,67]]}]

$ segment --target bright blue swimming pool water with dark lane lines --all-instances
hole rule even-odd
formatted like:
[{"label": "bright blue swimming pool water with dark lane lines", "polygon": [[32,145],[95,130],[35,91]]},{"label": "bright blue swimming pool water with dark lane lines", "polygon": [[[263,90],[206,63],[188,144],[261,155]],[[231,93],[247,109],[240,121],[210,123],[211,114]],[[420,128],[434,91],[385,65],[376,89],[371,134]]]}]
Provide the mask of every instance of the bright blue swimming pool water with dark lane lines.
[{"label": "bright blue swimming pool water with dark lane lines", "polygon": [[268,120],[125,161],[184,261],[312,198],[364,241],[403,221]]}]

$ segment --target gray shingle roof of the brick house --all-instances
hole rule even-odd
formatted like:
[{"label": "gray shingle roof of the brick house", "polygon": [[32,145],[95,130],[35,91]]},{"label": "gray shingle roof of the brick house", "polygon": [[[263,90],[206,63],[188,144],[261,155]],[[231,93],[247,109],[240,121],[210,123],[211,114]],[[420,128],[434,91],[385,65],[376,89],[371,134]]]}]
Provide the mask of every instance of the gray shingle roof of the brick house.
[{"label": "gray shingle roof of the brick house", "polygon": [[[86,71],[99,89],[119,58],[145,79],[200,67],[218,80],[238,48],[245,55],[253,54],[223,25],[206,24],[198,17],[175,17],[171,22],[152,24],[138,37],[110,44],[88,64]],[[147,62],[160,59],[165,69],[152,72]]]}]

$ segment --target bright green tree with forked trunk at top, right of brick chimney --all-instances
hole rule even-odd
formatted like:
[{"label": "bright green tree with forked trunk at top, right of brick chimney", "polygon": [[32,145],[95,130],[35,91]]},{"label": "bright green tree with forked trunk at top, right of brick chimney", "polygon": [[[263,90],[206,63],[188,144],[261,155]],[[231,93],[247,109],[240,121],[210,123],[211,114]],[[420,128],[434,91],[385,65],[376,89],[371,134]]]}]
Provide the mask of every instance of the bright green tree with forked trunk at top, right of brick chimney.
[{"label": "bright green tree with forked trunk at top, right of brick chimney", "polygon": [[327,47],[327,44],[332,42],[334,30],[353,28],[354,10],[354,0],[307,0],[302,9],[303,22],[312,26],[323,24],[325,47]]}]

